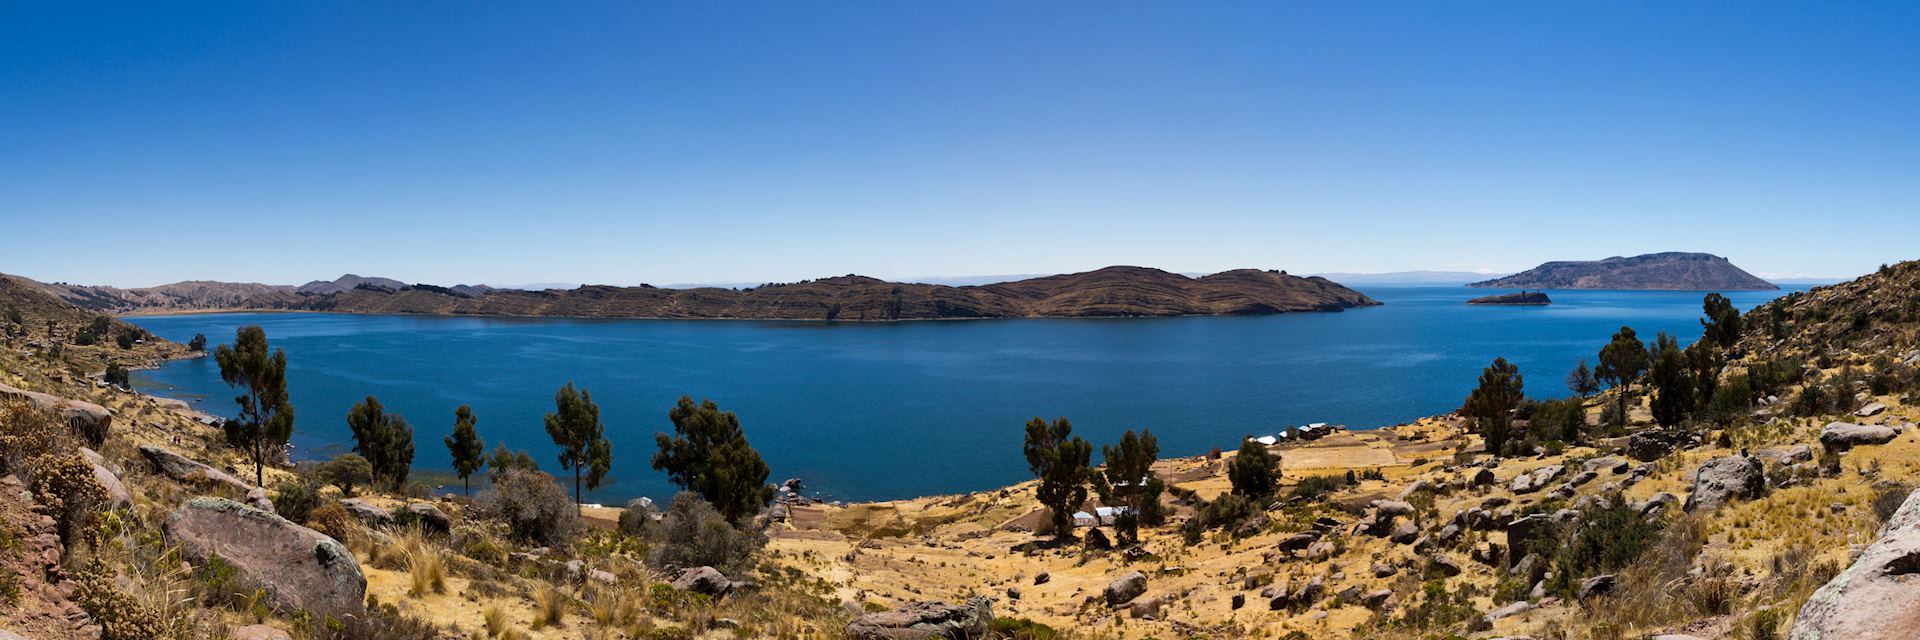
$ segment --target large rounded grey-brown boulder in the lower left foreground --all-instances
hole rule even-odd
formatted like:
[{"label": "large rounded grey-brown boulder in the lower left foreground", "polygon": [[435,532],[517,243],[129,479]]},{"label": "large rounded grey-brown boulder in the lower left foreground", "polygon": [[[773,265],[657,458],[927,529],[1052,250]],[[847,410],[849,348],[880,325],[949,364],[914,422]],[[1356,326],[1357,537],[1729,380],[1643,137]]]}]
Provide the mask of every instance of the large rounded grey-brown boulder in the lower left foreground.
[{"label": "large rounded grey-brown boulder in the lower left foreground", "polygon": [[242,584],[263,588],[276,611],[365,611],[367,577],[353,554],[284,517],[225,498],[194,498],[167,517],[165,534],[190,563],[219,557],[232,565]]}]

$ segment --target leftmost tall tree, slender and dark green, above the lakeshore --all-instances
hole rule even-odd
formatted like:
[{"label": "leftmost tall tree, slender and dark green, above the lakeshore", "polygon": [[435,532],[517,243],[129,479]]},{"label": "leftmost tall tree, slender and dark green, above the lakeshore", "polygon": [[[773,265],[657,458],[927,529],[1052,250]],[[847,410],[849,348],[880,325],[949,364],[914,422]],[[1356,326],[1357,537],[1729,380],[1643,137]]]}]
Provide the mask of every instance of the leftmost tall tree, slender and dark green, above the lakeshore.
[{"label": "leftmost tall tree, slender and dark green, above the lakeshore", "polygon": [[294,436],[294,404],[286,396],[286,352],[267,352],[267,331],[240,327],[234,344],[213,350],[227,386],[244,386],[234,398],[240,417],[227,421],[227,442],[253,457],[253,484],[265,482],[269,461],[284,455],[286,438]]}]

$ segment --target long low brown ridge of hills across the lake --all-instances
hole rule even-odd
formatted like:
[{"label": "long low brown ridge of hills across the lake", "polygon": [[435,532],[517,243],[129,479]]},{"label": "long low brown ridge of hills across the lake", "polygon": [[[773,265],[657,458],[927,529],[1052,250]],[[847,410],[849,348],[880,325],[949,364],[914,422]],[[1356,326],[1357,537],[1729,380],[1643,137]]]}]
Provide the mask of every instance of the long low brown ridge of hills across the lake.
[{"label": "long low brown ridge of hills across the lake", "polygon": [[79,308],[109,313],[301,309],[434,315],[893,321],[1258,315],[1340,311],[1379,304],[1332,281],[1294,277],[1283,271],[1235,269],[1194,279],[1146,267],[1106,267],[981,286],[887,283],[860,275],[843,275],[739,290],[676,290],[649,284],[511,290],[467,284],[403,284],[392,279],[359,275],[344,275],[334,281],[315,281],[301,286],[180,283],[123,290],[111,286],[33,284]]}]

